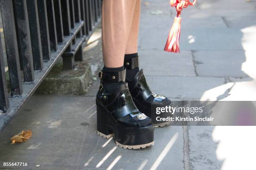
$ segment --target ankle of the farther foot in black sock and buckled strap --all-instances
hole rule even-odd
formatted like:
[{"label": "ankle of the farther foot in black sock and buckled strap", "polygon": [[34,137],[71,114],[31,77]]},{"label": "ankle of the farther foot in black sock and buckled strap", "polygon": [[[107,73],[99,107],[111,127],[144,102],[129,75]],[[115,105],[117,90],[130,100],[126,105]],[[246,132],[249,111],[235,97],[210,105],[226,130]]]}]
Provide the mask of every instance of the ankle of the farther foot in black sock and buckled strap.
[{"label": "ankle of the farther foot in black sock and buckled strap", "polygon": [[138,53],[125,54],[124,67],[126,68],[126,78],[133,80],[134,76],[140,71],[138,67]]}]

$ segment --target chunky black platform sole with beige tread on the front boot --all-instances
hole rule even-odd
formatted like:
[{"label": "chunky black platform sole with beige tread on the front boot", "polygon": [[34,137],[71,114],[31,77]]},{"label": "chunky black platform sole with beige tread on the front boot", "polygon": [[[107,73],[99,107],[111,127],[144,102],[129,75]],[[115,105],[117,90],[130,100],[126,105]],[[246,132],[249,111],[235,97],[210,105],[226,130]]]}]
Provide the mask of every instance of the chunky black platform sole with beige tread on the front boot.
[{"label": "chunky black platform sole with beige tread on the front boot", "polygon": [[154,125],[141,128],[120,128],[102,105],[97,104],[97,134],[104,138],[114,137],[118,146],[140,149],[154,145]]}]

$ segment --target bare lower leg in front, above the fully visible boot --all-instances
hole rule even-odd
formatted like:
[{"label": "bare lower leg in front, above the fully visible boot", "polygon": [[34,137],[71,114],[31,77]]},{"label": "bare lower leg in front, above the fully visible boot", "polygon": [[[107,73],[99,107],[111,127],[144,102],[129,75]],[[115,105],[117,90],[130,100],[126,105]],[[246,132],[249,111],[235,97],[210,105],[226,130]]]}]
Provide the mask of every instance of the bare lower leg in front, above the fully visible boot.
[{"label": "bare lower leg in front, above the fully visible boot", "polygon": [[103,0],[102,51],[106,67],[121,67],[138,0]]}]

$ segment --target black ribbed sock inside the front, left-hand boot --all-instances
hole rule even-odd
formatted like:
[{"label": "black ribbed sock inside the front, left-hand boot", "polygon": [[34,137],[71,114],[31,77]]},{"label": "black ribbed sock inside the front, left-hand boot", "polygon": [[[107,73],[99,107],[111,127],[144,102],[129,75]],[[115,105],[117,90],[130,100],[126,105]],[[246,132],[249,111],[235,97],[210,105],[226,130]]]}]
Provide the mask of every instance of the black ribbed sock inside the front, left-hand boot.
[{"label": "black ribbed sock inside the front, left-hand boot", "polygon": [[[104,65],[102,71],[103,72],[119,72],[123,71],[124,67],[116,67],[116,68],[109,68]],[[103,81],[103,87],[106,93],[113,93],[120,85],[123,85],[124,82],[119,82],[119,83],[113,83],[113,82],[104,82]]]}]

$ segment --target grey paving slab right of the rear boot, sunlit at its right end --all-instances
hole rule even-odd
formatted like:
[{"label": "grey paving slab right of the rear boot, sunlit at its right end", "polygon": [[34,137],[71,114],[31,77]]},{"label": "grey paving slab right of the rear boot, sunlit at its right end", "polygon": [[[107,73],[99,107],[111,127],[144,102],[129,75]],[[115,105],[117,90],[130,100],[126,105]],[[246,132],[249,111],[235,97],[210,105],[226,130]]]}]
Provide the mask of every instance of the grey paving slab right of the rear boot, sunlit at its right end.
[{"label": "grey paving slab right of the rear boot, sunlit at its right end", "polygon": [[[154,92],[182,100],[216,99],[230,87],[225,85],[224,78],[219,77],[146,76],[146,79]],[[204,95],[208,90],[214,92]]]}]

